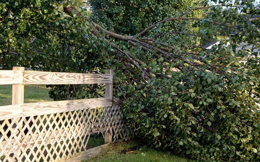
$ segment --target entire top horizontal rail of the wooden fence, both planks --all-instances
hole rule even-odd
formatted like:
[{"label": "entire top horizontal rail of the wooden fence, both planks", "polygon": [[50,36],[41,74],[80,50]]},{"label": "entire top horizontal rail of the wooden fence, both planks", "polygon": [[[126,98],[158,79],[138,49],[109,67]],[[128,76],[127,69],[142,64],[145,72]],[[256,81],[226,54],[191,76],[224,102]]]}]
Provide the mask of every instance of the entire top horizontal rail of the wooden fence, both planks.
[{"label": "entire top horizontal rail of the wooden fence, both planks", "polygon": [[60,73],[23,70],[0,70],[0,85],[7,84],[98,84],[113,83],[113,74]]}]

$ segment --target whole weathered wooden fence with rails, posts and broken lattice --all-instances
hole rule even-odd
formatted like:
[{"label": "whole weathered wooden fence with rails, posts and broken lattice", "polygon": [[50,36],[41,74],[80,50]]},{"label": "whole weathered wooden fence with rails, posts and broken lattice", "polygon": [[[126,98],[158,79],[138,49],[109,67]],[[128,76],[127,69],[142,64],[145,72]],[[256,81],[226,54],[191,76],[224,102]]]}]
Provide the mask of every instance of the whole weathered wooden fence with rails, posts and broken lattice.
[{"label": "whole weathered wooden fence with rails, posts and broken lattice", "polygon": [[[25,84],[105,83],[105,97],[23,103]],[[0,85],[12,84],[12,105],[0,106],[0,161],[74,161],[88,152],[91,134],[105,143],[128,140],[121,101],[106,74],[0,70]]]}]

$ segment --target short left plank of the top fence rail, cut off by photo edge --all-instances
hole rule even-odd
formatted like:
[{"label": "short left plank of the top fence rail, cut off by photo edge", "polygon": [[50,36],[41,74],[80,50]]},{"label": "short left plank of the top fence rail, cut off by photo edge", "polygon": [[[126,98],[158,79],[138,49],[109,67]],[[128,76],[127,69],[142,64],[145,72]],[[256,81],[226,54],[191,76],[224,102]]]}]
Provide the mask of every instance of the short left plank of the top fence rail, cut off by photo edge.
[{"label": "short left plank of the top fence rail, cut off by photo edge", "polygon": [[23,84],[23,70],[0,70],[0,85]]}]

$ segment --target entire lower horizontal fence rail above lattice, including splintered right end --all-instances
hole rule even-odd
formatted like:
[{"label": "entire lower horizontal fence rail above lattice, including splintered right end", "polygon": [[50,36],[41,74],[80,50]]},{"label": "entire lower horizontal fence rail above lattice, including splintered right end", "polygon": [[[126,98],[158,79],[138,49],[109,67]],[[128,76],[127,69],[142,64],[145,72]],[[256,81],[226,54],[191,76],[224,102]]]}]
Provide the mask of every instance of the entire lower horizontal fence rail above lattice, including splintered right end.
[{"label": "entire lower horizontal fence rail above lattice, including splintered right end", "polygon": [[105,107],[112,105],[119,106],[121,103],[122,101],[118,98],[105,97],[0,106],[0,120],[23,116],[28,117],[51,113],[62,113],[86,108]]}]

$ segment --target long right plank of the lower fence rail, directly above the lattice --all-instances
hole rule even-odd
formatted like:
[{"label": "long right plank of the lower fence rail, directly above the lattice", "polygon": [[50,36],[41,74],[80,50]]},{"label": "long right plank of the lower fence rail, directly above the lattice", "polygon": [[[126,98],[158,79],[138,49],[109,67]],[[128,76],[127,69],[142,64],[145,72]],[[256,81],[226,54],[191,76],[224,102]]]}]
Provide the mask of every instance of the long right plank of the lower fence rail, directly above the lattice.
[{"label": "long right plank of the lower fence rail, directly above the lattice", "polygon": [[44,115],[112,105],[112,97],[23,104],[23,116]]}]

